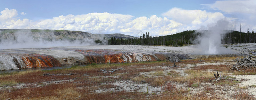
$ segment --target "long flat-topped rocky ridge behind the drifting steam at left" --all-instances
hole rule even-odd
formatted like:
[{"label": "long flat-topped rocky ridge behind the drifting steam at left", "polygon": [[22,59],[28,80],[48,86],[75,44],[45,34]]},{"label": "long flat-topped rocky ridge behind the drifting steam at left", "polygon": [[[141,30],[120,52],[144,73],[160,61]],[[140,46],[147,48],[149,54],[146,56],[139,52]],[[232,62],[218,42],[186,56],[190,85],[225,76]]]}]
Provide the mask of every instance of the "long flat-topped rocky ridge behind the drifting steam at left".
[{"label": "long flat-topped rocky ridge behind the drifting steam at left", "polygon": [[92,34],[89,32],[82,31],[69,31],[69,30],[39,30],[39,29],[0,29],[0,42],[3,40],[15,40],[20,33],[29,35],[33,39],[43,39],[43,40],[81,40],[81,39],[93,39],[93,40],[107,40],[111,37],[115,38],[133,38],[138,37],[124,35],[120,33],[115,34]]}]

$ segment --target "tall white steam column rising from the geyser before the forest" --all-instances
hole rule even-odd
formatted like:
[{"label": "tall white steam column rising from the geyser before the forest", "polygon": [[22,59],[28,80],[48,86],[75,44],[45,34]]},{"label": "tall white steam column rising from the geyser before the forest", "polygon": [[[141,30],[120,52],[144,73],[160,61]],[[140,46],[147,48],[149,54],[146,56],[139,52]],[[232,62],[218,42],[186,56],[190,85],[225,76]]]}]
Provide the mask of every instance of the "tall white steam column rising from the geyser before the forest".
[{"label": "tall white steam column rising from the geyser before the forest", "polygon": [[[226,19],[217,21],[215,25],[208,25],[208,28],[202,27],[199,31],[201,36],[194,41],[198,46],[199,54],[228,54],[231,53],[229,49],[221,46],[221,39],[231,30],[233,25]],[[205,30],[207,29],[207,31]]]}]

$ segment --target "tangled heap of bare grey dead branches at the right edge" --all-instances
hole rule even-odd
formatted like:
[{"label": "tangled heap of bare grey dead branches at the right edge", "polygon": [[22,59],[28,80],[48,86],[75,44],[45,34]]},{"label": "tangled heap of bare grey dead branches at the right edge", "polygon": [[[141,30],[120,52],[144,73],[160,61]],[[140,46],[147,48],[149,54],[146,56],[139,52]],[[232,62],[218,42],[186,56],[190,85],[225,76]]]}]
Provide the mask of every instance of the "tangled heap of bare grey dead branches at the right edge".
[{"label": "tangled heap of bare grey dead branches at the right edge", "polygon": [[232,70],[245,71],[248,68],[256,68],[256,52],[249,50],[241,50],[241,56],[236,58],[236,64],[231,68]]}]

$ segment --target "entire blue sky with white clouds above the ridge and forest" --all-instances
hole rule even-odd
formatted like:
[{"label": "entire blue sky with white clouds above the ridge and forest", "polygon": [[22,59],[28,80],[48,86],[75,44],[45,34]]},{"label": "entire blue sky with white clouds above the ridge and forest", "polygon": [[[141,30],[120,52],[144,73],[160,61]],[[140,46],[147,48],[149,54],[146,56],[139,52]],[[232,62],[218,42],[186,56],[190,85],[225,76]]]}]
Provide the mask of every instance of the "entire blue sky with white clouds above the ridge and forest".
[{"label": "entire blue sky with white clouds above the ridge and forest", "polygon": [[57,29],[137,36],[256,28],[256,0],[0,0],[0,29]]}]

